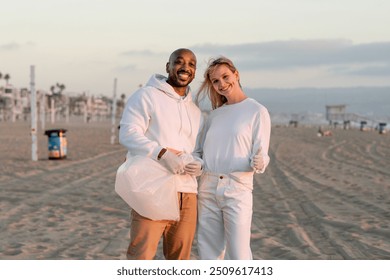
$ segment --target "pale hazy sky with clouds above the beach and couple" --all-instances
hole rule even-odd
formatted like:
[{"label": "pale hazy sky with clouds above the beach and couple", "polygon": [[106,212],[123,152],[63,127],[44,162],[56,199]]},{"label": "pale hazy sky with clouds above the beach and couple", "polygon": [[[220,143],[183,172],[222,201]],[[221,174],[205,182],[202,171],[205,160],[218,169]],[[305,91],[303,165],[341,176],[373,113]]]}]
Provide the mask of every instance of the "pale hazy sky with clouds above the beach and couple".
[{"label": "pale hazy sky with clouds above the beach and couple", "polygon": [[[129,95],[170,53],[192,49],[193,91],[210,58],[247,88],[390,86],[388,0],[1,1],[0,73],[15,87]],[[4,86],[4,79],[0,86]]]}]

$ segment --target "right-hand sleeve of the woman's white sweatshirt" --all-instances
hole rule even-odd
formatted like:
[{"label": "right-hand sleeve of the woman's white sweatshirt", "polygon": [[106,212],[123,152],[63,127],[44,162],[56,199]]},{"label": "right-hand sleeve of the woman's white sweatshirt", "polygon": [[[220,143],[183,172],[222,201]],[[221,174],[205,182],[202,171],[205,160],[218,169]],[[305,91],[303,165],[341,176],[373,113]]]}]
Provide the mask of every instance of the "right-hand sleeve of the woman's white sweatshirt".
[{"label": "right-hand sleeve of the woman's white sweatshirt", "polygon": [[264,160],[264,167],[261,170],[256,170],[256,173],[264,173],[267,168],[270,157],[268,156],[268,149],[271,137],[271,118],[269,116],[268,110],[265,107],[261,107],[260,113],[257,115],[257,119],[255,121],[255,127],[253,128],[253,148],[252,148],[252,156],[257,153],[257,151],[261,147],[261,155]]}]

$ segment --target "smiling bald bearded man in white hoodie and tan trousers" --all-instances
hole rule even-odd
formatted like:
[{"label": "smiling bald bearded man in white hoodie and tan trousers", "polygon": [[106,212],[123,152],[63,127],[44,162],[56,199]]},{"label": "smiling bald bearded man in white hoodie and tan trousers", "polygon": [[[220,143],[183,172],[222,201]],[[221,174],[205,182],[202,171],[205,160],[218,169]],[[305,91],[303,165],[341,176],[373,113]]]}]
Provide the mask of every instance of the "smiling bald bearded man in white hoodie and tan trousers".
[{"label": "smiling bald bearded man in white hoodie and tan trousers", "polygon": [[153,259],[161,236],[166,259],[190,258],[197,218],[195,176],[201,164],[196,160],[185,164],[182,156],[193,152],[203,122],[189,87],[195,71],[194,53],[177,49],[166,64],[168,77],[153,75],[126,103],[119,141],[127,148],[127,157],[152,158],[175,174],[180,205],[179,221],[155,221],[132,210],[128,259]]}]

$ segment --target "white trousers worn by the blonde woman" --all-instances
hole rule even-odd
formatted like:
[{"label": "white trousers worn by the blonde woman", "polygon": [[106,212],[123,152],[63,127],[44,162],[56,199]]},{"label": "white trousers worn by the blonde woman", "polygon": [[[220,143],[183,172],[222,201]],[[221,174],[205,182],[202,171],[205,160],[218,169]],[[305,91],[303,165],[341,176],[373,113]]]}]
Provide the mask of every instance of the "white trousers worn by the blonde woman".
[{"label": "white trousers worn by the blonde woman", "polygon": [[205,173],[198,189],[200,259],[251,260],[253,172]]}]

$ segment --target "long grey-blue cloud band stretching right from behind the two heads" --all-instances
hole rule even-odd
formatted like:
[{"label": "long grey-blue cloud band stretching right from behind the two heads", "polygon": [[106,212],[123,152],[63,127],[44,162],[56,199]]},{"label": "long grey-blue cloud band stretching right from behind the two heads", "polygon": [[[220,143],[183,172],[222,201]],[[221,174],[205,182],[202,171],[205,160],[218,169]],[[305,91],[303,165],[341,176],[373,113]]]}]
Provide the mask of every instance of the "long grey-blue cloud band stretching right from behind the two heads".
[{"label": "long grey-blue cloud band stretching right from behind the two heads", "polygon": [[[241,71],[286,70],[344,66],[344,73],[386,72],[390,65],[390,42],[354,45],[348,40],[289,40],[239,45],[197,45],[197,54],[231,58]],[[352,65],[366,65],[353,71]],[[375,67],[372,64],[381,64]],[[334,69],[334,68],[333,68]],[[365,69],[365,70],[364,70]]]}]

